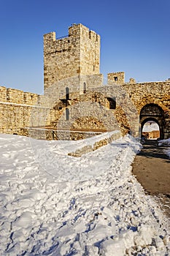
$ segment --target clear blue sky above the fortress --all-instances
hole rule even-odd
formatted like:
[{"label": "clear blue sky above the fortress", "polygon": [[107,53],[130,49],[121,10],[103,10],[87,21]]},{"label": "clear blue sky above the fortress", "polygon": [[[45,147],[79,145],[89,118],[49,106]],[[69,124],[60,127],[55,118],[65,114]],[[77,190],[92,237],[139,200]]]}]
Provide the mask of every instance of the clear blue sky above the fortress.
[{"label": "clear blue sky above the fortress", "polygon": [[170,0],[0,0],[0,86],[43,94],[43,34],[82,23],[101,35],[101,73],[170,78]]}]

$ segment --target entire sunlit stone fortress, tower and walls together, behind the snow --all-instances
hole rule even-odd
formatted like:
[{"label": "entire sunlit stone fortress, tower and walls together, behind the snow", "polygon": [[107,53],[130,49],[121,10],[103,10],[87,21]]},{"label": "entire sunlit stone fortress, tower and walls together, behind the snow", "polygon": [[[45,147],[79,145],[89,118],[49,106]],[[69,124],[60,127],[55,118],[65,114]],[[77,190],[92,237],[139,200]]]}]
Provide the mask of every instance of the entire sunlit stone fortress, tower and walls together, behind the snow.
[{"label": "entire sunlit stone fortress, tower and walls together, behind the snow", "polygon": [[124,72],[112,72],[104,85],[99,69],[96,32],[74,24],[66,37],[45,34],[44,95],[0,86],[0,132],[77,140],[119,129],[138,137],[155,121],[161,138],[170,137],[169,79],[125,83]]}]

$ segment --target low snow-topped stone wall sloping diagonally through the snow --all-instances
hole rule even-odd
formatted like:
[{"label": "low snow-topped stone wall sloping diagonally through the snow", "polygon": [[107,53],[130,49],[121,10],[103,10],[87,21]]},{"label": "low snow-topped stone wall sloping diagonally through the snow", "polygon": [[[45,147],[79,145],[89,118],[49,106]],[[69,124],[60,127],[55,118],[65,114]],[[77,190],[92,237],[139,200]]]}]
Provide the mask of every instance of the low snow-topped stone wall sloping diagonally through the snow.
[{"label": "low snow-topped stone wall sloping diagonally through the snow", "polygon": [[[105,138],[104,135],[106,136]],[[91,151],[95,151],[96,149],[101,148],[102,146],[106,146],[107,144],[111,143],[112,140],[117,140],[120,137],[120,131],[105,132],[103,135],[97,136],[96,140],[94,140],[92,144],[91,141],[89,141],[89,145],[83,146],[82,148],[77,148],[76,151],[70,152],[68,155],[71,157],[81,157],[83,154],[87,154]]]}]

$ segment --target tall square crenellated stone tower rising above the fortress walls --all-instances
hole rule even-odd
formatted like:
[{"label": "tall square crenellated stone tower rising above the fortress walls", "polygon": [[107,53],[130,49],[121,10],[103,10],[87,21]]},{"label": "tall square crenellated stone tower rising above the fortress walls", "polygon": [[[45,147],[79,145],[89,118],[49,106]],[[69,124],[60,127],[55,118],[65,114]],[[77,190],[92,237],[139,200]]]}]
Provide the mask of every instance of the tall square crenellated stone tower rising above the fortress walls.
[{"label": "tall square crenellated stone tower rising above the fortress walls", "polygon": [[55,32],[44,35],[44,86],[48,89],[68,78],[70,83],[83,83],[83,77],[98,76],[100,36],[82,24],[69,27],[69,36],[55,38]]}]

